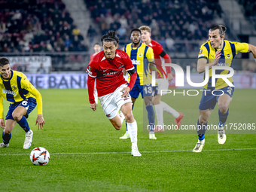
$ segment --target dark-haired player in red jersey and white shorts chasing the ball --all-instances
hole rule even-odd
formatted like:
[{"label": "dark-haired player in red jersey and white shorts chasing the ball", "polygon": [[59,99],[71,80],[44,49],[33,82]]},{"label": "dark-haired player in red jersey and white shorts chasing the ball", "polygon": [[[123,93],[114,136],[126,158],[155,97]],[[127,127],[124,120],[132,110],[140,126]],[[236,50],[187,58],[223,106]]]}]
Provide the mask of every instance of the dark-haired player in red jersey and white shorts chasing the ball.
[{"label": "dark-haired player in red jersey and white shorts chasing the ball", "polygon": [[[114,31],[109,31],[101,38],[103,50],[93,57],[87,67],[88,94],[90,108],[96,111],[93,96],[94,82],[102,109],[116,130],[120,130],[123,112],[132,142],[132,155],[142,156],[137,147],[137,123],[133,117],[130,90],[136,82],[137,74],[130,57],[123,50],[117,50],[119,39]],[[130,74],[130,84],[123,78],[123,68]]]}]

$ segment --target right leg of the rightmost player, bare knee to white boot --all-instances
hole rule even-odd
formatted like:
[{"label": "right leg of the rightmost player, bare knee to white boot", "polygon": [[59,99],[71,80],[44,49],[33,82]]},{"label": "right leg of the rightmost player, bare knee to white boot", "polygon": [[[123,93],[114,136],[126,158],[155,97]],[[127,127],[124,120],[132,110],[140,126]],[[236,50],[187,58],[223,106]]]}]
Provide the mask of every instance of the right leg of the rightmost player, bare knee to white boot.
[{"label": "right leg of the rightmost player, bare knee to white boot", "polygon": [[223,145],[226,142],[227,136],[225,134],[224,125],[227,120],[228,116],[228,106],[230,105],[232,98],[227,95],[223,94],[218,98],[218,143]]}]

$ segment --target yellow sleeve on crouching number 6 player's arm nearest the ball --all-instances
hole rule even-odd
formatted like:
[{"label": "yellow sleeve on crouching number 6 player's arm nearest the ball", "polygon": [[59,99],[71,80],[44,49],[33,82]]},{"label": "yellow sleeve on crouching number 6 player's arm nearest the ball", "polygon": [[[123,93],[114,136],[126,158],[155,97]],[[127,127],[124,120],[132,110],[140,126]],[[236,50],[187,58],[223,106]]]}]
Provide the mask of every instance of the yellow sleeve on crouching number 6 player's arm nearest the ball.
[{"label": "yellow sleeve on crouching number 6 player's arm nearest the ball", "polygon": [[43,114],[43,101],[41,97],[41,93],[29,82],[26,75],[24,75],[20,81],[21,88],[28,90],[33,96],[35,96],[36,103],[38,105],[38,114]]}]

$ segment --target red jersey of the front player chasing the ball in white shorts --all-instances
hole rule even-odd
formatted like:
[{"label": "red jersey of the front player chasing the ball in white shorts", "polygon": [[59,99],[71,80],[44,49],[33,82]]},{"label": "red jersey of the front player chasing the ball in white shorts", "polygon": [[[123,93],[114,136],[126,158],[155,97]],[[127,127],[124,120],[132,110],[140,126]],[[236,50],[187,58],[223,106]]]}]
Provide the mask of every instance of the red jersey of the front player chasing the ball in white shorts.
[{"label": "red jersey of the front player chasing the ball in white shorts", "polygon": [[[95,78],[98,96],[113,93],[120,85],[127,84],[127,81],[123,78],[123,68],[126,69],[126,71],[134,69],[133,62],[123,50],[116,50],[114,59],[106,59],[104,50],[93,57],[93,60],[90,61],[87,67],[90,103],[95,102],[93,89],[91,89],[89,85],[93,84],[94,86]],[[133,87],[131,87],[131,89],[132,88]]]}]

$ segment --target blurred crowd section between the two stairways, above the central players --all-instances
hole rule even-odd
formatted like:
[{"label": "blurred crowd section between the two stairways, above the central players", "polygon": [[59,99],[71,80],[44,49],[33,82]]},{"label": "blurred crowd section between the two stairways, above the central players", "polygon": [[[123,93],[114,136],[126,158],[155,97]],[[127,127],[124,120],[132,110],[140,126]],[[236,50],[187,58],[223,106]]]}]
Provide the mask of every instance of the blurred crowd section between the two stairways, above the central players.
[{"label": "blurred crowd section between the two stairways, above the central players", "polygon": [[[84,0],[102,34],[116,30],[120,41],[130,41],[130,30],[147,25],[152,39],[166,50],[194,50],[197,46],[175,44],[178,40],[204,40],[213,24],[214,14],[221,16],[218,0]],[[192,47],[190,47],[192,46]]]}]

